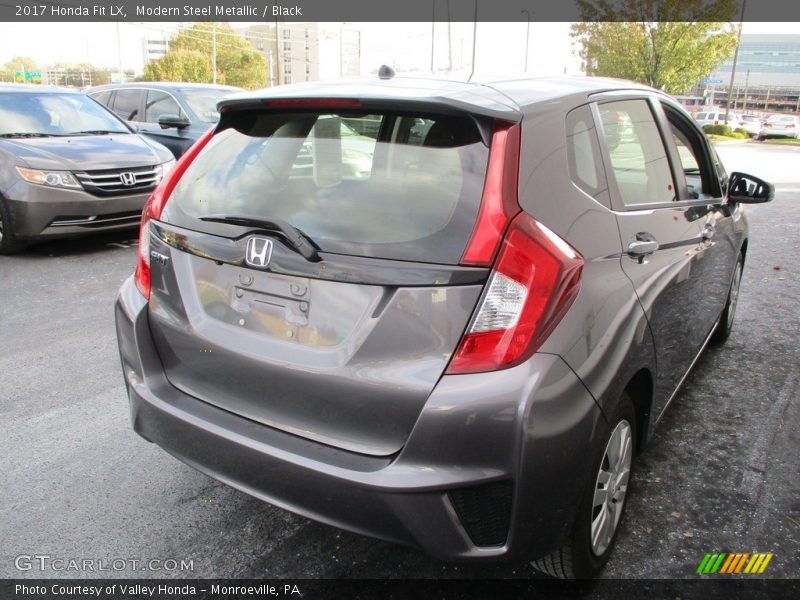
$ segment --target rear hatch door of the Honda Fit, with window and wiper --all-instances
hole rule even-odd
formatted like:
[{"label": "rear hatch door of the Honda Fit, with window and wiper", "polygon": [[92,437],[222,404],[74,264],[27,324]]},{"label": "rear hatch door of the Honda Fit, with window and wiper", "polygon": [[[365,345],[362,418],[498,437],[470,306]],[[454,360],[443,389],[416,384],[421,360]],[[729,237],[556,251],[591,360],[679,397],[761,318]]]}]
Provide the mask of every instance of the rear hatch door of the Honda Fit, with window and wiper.
[{"label": "rear hatch door of the Honda Fit, with window and wiper", "polygon": [[398,452],[488,278],[459,265],[483,125],[452,111],[223,115],[150,223],[150,326],[171,384],[309,440]]}]

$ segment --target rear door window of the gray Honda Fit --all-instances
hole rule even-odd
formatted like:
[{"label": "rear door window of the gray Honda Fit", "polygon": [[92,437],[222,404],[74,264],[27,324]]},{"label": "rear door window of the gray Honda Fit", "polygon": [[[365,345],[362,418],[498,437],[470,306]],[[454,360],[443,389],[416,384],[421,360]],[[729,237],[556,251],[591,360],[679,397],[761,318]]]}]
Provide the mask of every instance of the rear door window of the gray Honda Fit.
[{"label": "rear door window of the gray Honda Fit", "polygon": [[627,206],[677,200],[667,153],[646,100],[601,104],[603,140]]}]

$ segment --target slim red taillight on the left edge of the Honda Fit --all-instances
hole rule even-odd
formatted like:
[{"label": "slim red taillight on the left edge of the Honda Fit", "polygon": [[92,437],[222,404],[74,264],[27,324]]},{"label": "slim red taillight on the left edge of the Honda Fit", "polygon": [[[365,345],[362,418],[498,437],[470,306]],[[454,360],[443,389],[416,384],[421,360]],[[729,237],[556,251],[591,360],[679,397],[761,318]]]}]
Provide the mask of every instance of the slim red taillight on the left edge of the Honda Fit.
[{"label": "slim red taillight on the left edge of the Honda Fit", "polygon": [[200,150],[214,135],[212,127],[197,140],[175,163],[172,170],[164,176],[142,209],[142,222],[139,226],[139,250],[136,257],[136,272],[133,281],[142,295],[150,299],[150,219],[158,219],[164,210],[172,190],[175,189],[186,168],[191,164]]}]

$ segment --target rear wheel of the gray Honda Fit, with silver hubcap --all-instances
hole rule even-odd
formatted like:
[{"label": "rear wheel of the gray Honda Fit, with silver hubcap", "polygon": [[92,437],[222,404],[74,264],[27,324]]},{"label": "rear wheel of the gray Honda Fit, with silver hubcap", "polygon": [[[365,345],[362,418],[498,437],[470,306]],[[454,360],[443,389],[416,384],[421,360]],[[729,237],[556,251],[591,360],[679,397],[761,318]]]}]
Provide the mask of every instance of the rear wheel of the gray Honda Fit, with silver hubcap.
[{"label": "rear wheel of the gray Honda Fit, with silver hubcap", "polygon": [[[572,526],[572,533],[569,542],[560,550],[553,552],[531,564],[535,569],[559,579],[592,579],[608,562],[614,543],[617,539],[620,523],[625,512],[626,500],[630,495],[630,476],[633,473],[633,454],[636,440],[636,413],[633,409],[633,402],[627,394],[623,394],[617,409],[610,421],[611,425],[605,435],[598,438],[598,443],[594,448],[594,465],[592,474],[586,484],[586,490],[581,498],[580,507]],[[595,506],[595,496],[598,490],[602,490],[601,474],[613,472],[609,468],[609,442],[612,437],[626,439],[625,453],[627,454],[627,477],[624,477],[624,484],[619,488],[614,486],[615,493],[612,498],[602,502],[612,508],[606,513],[611,521],[611,531],[605,535],[598,535],[597,541],[593,542],[592,529],[601,523],[601,513],[605,507]],[[604,475],[605,477],[605,475]],[[611,478],[614,479],[613,477]],[[619,479],[618,482],[622,483]],[[610,481],[609,484],[612,484]],[[608,498],[608,495],[606,495]],[[613,511],[613,513],[612,513]],[[613,521],[613,523],[612,523]],[[603,532],[602,528],[600,533]],[[610,535],[609,535],[610,534]],[[598,543],[602,538],[603,543]],[[607,538],[607,539],[606,539]]]}]

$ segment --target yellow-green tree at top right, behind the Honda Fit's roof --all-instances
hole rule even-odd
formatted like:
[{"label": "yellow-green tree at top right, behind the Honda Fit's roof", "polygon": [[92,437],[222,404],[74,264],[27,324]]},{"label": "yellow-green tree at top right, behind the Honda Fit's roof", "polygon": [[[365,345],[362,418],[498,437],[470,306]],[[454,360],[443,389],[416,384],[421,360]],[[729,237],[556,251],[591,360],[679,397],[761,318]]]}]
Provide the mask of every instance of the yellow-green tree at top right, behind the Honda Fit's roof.
[{"label": "yellow-green tree at top right, behind the Honda Fit's roof", "polygon": [[577,0],[572,25],[587,75],[688,91],[733,54],[737,0]]}]

